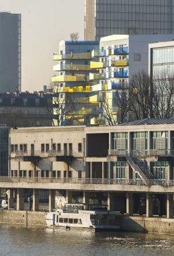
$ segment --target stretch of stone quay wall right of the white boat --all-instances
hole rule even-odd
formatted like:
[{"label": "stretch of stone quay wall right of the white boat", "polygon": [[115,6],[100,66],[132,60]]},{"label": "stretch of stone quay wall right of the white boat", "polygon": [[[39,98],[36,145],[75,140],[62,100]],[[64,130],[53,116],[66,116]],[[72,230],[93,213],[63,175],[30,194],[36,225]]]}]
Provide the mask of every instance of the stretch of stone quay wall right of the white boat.
[{"label": "stretch of stone quay wall right of the white boat", "polygon": [[121,216],[121,230],[174,235],[174,219]]}]

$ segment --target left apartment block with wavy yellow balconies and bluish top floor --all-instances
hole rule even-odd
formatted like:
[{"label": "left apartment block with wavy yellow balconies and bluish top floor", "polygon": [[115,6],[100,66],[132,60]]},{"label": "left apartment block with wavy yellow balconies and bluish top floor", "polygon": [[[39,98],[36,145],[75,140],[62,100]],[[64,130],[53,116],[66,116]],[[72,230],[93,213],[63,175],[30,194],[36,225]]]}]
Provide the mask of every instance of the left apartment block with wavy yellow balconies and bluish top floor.
[{"label": "left apartment block with wavy yellow balconies and bluish top floor", "polygon": [[52,84],[62,98],[71,99],[71,110],[64,110],[65,115],[71,117],[67,118],[68,124],[64,122],[66,125],[95,124],[99,113],[97,92],[91,91],[93,81],[89,81],[89,72],[95,71],[90,70],[93,49],[99,49],[99,42],[61,41],[59,54],[54,55],[54,60],[59,64],[53,67],[57,74],[52,77]]}]

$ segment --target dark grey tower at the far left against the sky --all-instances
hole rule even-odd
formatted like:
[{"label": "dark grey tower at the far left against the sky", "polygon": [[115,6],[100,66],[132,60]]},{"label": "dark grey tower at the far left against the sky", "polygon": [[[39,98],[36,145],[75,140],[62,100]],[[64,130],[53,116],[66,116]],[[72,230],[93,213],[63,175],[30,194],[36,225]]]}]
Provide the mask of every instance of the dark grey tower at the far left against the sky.
[{"label": "dark grey tower at the far left against the sky", "polygon": [[0,12],[0,92],[21,91],[21,15]]}]

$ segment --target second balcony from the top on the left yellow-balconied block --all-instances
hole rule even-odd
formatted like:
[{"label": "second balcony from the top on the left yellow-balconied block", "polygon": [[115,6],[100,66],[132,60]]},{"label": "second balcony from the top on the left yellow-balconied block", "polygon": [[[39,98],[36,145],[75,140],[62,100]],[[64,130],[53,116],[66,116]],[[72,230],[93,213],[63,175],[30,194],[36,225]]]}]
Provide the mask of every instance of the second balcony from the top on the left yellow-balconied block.
[{"label": "second balcony from the top on the left yellow-balconied block", "polygon": [[78,70],[90,70],[90,65],[85,64],[58,64],[53,67],[53,71],[78,71]]}]

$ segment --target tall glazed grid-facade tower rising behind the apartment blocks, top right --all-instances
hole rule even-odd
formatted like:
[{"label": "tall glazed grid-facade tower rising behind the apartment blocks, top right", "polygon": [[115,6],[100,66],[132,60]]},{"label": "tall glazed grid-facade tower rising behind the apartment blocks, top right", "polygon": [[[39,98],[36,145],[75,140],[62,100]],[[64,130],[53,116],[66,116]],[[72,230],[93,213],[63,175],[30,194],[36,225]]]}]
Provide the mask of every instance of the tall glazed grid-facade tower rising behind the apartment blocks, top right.
[{"label": "tall glazed grid-facade tower rising behind the apartment blocks, top right", "polygon": [[85,0],[85,40],[113,34],[173,34],[174,0]]}]

